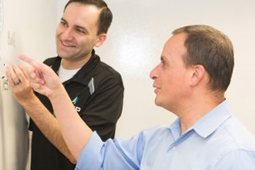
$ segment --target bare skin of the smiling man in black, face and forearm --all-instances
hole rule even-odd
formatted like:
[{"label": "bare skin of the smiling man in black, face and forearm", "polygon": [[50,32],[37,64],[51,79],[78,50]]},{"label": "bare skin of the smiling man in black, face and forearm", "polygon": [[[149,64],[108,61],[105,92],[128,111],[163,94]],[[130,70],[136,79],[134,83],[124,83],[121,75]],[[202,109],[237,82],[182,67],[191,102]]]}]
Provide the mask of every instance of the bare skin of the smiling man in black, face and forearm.
[{"label": "bare skin of the smiling man in black, face and forearm", "polygon": [[[82,67],[90,59],[93,48],[104,43],[106,34],[97,35],[99,14],[100,9],[95,6],[76,2],[67,6],[56,30],[56,50],[65,69]],[[24,74],[25,70],[24,66],[15,64],[6,69],[14,98],[24,107],[45,137],[75,164],[77,156],[74,157],[67,147],[59,122],[34,95],[28,77]],[[21,83],[15,85],[18,81]],[[62,103],[60,106],[65,105]],[[83,121],[82,123],[84,124]]]}]

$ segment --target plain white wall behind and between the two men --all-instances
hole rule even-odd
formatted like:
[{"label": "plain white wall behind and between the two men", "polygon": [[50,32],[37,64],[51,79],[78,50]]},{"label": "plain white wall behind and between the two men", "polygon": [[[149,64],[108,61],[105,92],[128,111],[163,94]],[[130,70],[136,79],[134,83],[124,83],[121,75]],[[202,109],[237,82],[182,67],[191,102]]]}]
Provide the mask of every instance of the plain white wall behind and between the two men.
[{"label": "plain white wall behind and between the two men", "polygon": [[[103,61],[123,76],[125,103],[117,137],[169,124],[175,116],[155,106],[151,69],[159,62],[171,31],[187,24],[208,24],[223,31],[235,48],[235,69],[227,98],[234,114],[255,135],[255,1],[246,0],[107,0],[114,19],[105,44],[97,49]],[[61,1],[59,7],[65,4]],[[62,12],[62,11],[61,11]]]}]

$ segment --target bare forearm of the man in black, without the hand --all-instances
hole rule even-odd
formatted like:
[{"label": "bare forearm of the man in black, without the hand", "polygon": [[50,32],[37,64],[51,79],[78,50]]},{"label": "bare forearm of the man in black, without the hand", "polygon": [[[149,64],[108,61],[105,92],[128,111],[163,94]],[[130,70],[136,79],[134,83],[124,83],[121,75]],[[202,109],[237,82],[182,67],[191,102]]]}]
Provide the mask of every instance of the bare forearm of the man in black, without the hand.
[{"label": "bare forearm of the man in black, without the hand", "polygon": [[70,162],[76,164],[76,160],[68,149],[61,133],[57,119],[45,108],[36,96],[29,101],[21,102],[28,115],[38,126],[44,136],[63,154]]}]

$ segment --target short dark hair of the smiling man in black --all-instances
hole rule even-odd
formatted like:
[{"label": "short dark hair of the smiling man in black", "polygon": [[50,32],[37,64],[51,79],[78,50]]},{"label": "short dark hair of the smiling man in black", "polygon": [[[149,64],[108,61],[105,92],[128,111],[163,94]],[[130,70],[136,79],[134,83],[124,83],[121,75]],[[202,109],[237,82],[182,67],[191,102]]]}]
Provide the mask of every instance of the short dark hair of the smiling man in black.
[{"label": "short dark hair of the smiling man in black", "polygon": [[64,11],[67,6],[73,2],[78,2],[85,5],[95,5],[97,8],[101,9],[101,13],[98,18],[97,35],[107,33],[112,23],[113,15],[111,10],[108,8],[106,2],[104,2],[103,0],[69,0],[64,7]]}]

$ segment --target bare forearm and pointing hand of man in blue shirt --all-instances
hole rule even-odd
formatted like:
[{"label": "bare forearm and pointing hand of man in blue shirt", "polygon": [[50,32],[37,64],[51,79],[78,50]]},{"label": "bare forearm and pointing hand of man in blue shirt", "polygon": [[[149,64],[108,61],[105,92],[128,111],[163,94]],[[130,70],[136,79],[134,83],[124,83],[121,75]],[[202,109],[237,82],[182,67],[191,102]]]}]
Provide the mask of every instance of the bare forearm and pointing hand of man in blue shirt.
[{"label": "bare forearm and pointing hand of man in blue shirt", "polygon": [[19,58],[32,66],[26,68],[30,85],[51,101],[66,144],[77,160],[92,135],[92,130],[74,109],[62,83],[51,68],[24,55]]}]

